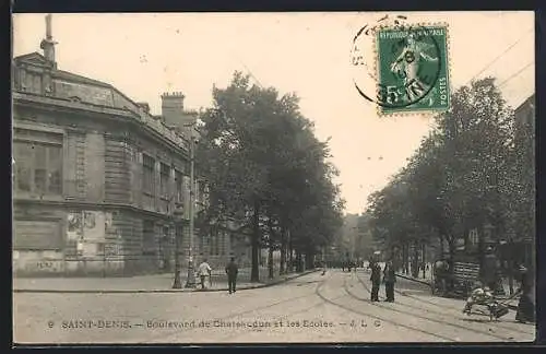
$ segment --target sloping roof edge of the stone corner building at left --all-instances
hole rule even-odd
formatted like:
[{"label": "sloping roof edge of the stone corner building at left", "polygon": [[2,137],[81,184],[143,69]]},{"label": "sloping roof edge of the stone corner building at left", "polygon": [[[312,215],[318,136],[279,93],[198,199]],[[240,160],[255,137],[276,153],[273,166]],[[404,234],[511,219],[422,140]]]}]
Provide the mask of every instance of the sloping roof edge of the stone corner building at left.
[{"label": "sloping roof edge of the stone corner building at left", "polygon": [[121,91],[109,83],[90,79],[69,71],[58,70],[39,52],[31,52],[14,58],[15,66],[38,67],[51,72],[51,81],[55,86],[50,98],[73,99],[78,98],[90,106],[103,106],[133,113],[140,121],[151,127],[165,139],[170,140],[180,148],[187,148],[187,139],[167,127],[161,116],[153,116],[146,111],[141,104],[126,96]]}]

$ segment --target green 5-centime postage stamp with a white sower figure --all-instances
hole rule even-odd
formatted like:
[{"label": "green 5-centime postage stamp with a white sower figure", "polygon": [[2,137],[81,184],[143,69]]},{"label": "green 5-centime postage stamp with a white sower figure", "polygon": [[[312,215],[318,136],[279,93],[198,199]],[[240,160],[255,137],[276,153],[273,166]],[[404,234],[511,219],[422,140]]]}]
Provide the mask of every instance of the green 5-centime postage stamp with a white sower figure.
[{"label": "green 5-centime postage stamp with a white sower figure", "polygon": [[376,35],[380,114],[441,113],[450,106],[448,27],[383,27]]}]

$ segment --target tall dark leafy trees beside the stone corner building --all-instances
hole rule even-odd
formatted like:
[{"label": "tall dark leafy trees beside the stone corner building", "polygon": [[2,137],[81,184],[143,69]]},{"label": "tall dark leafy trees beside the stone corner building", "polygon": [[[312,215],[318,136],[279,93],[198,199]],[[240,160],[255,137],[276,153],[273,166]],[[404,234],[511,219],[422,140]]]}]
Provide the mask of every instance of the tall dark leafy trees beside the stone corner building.
[{"label": "tall dark leafy trees beside the stone corner building", "polygon": [[260,281],[259,253],[265,247],[270,278],[274,250],[281,251],[281,274],[287,264],[300,271],[304,257],[312,268],[343,222],[328,142],[314,137],[296,95],[251,85],[240,72],[226,88],[213,87],[213,102],[201,116],[195,150],[209,188],[199,229],[236,221],[250,238],[251,282]]}]

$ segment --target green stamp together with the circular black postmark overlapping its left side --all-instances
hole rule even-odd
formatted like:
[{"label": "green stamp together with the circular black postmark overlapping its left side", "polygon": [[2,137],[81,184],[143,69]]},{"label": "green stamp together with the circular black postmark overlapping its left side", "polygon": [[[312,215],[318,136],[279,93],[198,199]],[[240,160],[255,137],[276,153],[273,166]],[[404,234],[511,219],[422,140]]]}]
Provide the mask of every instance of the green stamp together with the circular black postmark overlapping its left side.
[{"label": "green stamp together with the circular black postmark overlapping its left side", "polygon": [[354,84],[380,115],[440,113],[449,109],[446,24],[408,24],[384,16],[361,27],[353,39]]}]

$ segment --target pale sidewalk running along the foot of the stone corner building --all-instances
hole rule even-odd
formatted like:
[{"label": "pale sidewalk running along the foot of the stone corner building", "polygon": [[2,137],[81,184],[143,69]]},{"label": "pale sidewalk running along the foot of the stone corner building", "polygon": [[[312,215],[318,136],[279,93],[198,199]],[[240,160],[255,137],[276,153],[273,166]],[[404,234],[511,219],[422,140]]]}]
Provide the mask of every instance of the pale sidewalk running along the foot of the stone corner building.
[{"label": "pale sidewalk running along the foot of the stone corner building", "polygon": [[[292,273],[268,279],[261,276],[259,283],[250,283],[245,276],[239,278],[237,290],[259,288],[280,284],[318,270],[308,270],[302,273]],[[212,286],[209,279],[205,281],[204,290],[199,284],[195,288],[185,288],[186,273],[182,272],[180,281],[182,288],[173,288],[173,274],[139,275],[128,278],[13,278],[14,293],[180,293],[180,292],[227,292],[227,278],[214,275]]]}]

